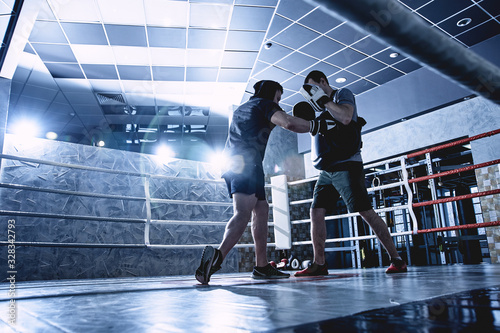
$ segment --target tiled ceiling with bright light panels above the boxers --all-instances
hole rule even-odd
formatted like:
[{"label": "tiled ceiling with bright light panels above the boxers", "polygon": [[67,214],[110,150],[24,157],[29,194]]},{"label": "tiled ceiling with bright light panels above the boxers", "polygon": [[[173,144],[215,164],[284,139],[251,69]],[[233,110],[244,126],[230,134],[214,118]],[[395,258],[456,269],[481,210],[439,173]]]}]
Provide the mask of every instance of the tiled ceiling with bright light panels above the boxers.
[{"label": "tiled ceiling with bright light panels above the boxers", "polygon": [[[498,0],[399,3],[463,47],[500,34]],[[298,90],[312,69],[356,95],[423,69],[397,48],[303,0],[40,5],[13,78],[9,126],[32,108],[33,115],[51,120],[59,140],[92,144],[89,133],[107,127],[107,147],[152,151],[161,141],[156,134],[172,125],[170,142],[182,146],[196,139],[220,147],[231,110],[251,96],[258,80],[282,83],[281,105],[290,112],[302,100]],[[7,15],[9,8],[0,6],[2,11]],[[1,29],[7,20],[0,18]],[[491,59],[500,49],[495,45],[486,50]],[[146,138],[140,126],[154,135]]]}]

